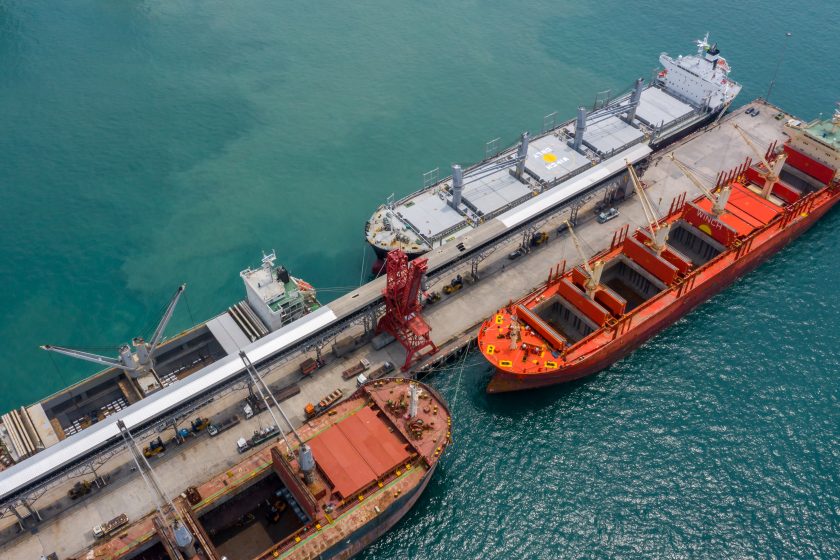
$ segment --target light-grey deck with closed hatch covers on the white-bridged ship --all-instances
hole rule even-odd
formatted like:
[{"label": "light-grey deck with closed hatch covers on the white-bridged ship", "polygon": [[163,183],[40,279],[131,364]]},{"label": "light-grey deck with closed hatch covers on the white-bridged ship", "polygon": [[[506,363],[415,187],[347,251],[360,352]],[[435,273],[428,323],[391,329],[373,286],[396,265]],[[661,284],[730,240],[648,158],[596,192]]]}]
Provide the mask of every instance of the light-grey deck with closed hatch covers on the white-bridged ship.
[{"label": "light-grey deck with closed hatch covers on the white-bridged ship", "polygon": [[[628,103],[626,94],[614,99],[610,107]],[[575,122],[567,121],[530,141],[527,176],[521,180],[512,177],[510,166],[482,176],[483,169],[515,155],[515,147],[508,148],[465,170],[464,204],[459,209],[450,205],[451,178],[444,179],[393,205],[380,207],[368,222],[368,240],[383,250],[400,247],[412,253],[428,251],[466,235],[483,220],[522,204],[529,193],[537,195],[571,181],[586,168],[603,164],[613,156],[628,156],[632,147],[650,139],[655,129],[669,134],[692,118],[700,120],[703,114],[659,87],[647,86],[632,124],[615,115],[595,112],[587,117],[583,145],[575,150],[571,147]],[[475,173],[477,179],[471,179],[470,173]]]}]

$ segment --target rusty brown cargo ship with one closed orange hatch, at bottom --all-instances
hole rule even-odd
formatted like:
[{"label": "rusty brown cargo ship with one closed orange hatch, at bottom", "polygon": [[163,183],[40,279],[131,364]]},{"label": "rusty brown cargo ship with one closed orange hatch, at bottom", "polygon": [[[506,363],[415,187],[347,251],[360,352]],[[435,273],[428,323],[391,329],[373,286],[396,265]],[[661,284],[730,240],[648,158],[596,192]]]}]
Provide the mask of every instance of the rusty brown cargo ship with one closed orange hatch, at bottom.
[{"label": "rusty brown cargo ship with one closed orange hatch, at bottom", "polygon": [[[417,502],[450,429],[434,389],[402,378],[369,381],[329,413],[186,489],[173,507],[201,558],[351,558]],[[76,557],[116,560],[139,550],[176,557],[165,555],[171,544],[156,517]]]}]

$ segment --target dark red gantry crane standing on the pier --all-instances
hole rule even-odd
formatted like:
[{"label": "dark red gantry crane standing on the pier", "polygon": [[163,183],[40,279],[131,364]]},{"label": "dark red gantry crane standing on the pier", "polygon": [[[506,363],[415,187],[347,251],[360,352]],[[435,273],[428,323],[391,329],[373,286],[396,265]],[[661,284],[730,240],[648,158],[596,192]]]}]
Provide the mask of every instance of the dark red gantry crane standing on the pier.
[{"label": "dark red gantry crane standing on the pier", "polygon": [[390,251],[385,260],[385,315],[379,319],[376,332],[387,332],[405,348],[403,371],[419,357],[421,350],[430,347],[429,354],[437,352],[431,338],[432,329],[420,314],[420,283],[427,264],[428,259],[424,258],[409,263],[406,254],[399,249]]}]

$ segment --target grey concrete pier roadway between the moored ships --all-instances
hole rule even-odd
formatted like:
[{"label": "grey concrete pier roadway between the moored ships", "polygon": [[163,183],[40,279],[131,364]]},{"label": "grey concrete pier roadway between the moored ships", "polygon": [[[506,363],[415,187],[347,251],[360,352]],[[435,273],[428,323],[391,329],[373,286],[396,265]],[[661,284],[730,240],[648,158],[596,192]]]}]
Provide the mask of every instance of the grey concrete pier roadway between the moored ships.
[{"label": "grey concrete pier roadway between the moored ships", "polygon": [[[732,122],[738,122],[761,147],[774,140],[784,140],[784,120],[777,121],[773,118],[777,109],[760,102],[748,106],[758,106],[761,109],[760,115],[750,117],[744,114],[746,107],[742,107],[710,130],[695,133],[668,150],[655,154],[642,180],[648,185],[651,200],[657,203],[663,212],[667,211],[671,200],[676,196],[685,192],[688,193],[687,198],[692,199],[699,194],[669,160],[663,159],[668,151],[675,151],[677,157],[699,176],[708,177],[712,182],[719,171],[729,170],[751,155],[737,131],[730,126]],[[606,224],[598,224],[594,214],[589,211],[595,202],[590,201],[590,208],[580,211],[578,226],[575,228],[587,251],[596,252],[608,247],[613,233],[625,224],[629,224],[632,230],[645,223],[636,197],[630,197],[618,205],[620,216]],[[477,326],[508,300],[517,299],[544,282],[549,269],[556,263],[566,260],[567,265],[578,264],[580,259],[568,234],[556,233],[566,215],[560,214],[542,226],[542,231],[550,233],[547,243],[519,259],[509,260],[508,253],[520,242],[518,237],[512,238],[507,247],[500,247],[482,262],[480,281],[465,285],[464,289],[451,296],[443,296],[440,302],[427,308],[424,316],[432,327],[434,341],[443,346],[464,331]],[[451,270],[451,276],[443,277],[440,285],[435,285],[433,289],[439,290],[455,274],[460,273],[466,278],[469,271],[470,264],[465,263],[461,268]],[[376,288],[368,284],[365,289]],[[381,287],[379,289],[381,290]],[[366,293],[365,296],[371,294]],[[354,327],[354,330],[360,332],[361,327]],[[341,372],[362,357],[368,358],[372,367],[385,360],[399,365],[403,363],[405,353],[396,343],[379,351],[374,351],[368,345],[346,358],[331,361],[306,378],[302,378],[297,371],[297,362],[287,362],[273,367],[265,375],[265,379],[274,386],[298,382],[300,394],[283,401],[281,406],[289,414],[291,421],[300,425],[305,421],[303,408],[306,403],[317,402],[336,388],[341,388],[345,395],[349,395],[355,389],[355,381],[342,380]],[[216,418],[234,412],[241,415],[241,403],[246,395],[244,388],[230,391],[217,397],[202,409],[200,414]],[[185,424],[190,419],[186,419]],[[457,416],[453,420],[455,429],[458,430]],[[164,490],[170,496],[176,496],[188,486],[197,485],[214,474],[233,467],[243,457],[236,451],[236,440],[248,437],[253,430],[270,423],[271,416],[262,412],[214,438],[203,433],[189,439],[182,446],[168,447],[164,455],[151,460],[152,466]],[[172,431],[167,430],[164,439],[171,438],[171,435]],[[141,445],[145,445],[148,439]],[[457,437],[455,441],[457,442]],[[154,509],[153,498],[142,478],[131,469],[127,451],[123,450],[111,457],[99,467],[97,474],[110,477],[109,484],[88,497],[73,502],[70,507],[66,493],[78,479],[51,488],[42,495],[34,504],[45,518],[44,522],[37,526],[37,532],[20,532],[14,517],[7,515],[3,518],[0,521],[0,543],[5,544],[0,544],[0,558],[38,558],[51,552],[56,552],[60,558],[73,556],[93,542],[93,525],[120,513],[126,513],[129,519],[134,521]]]}]

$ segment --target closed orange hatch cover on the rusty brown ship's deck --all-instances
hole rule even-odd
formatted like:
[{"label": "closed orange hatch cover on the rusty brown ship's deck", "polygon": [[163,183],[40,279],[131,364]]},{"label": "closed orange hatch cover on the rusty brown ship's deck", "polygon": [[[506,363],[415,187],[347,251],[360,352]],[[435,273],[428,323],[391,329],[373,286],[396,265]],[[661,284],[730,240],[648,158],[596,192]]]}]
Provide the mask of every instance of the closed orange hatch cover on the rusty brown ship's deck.
[{"label": "closed orange hatch cover on the rusty brown ship's deck", "polygon": [[367,406],[308,443],[318,468],[342,498],[355,495],[410,457],[405,441]]}]

